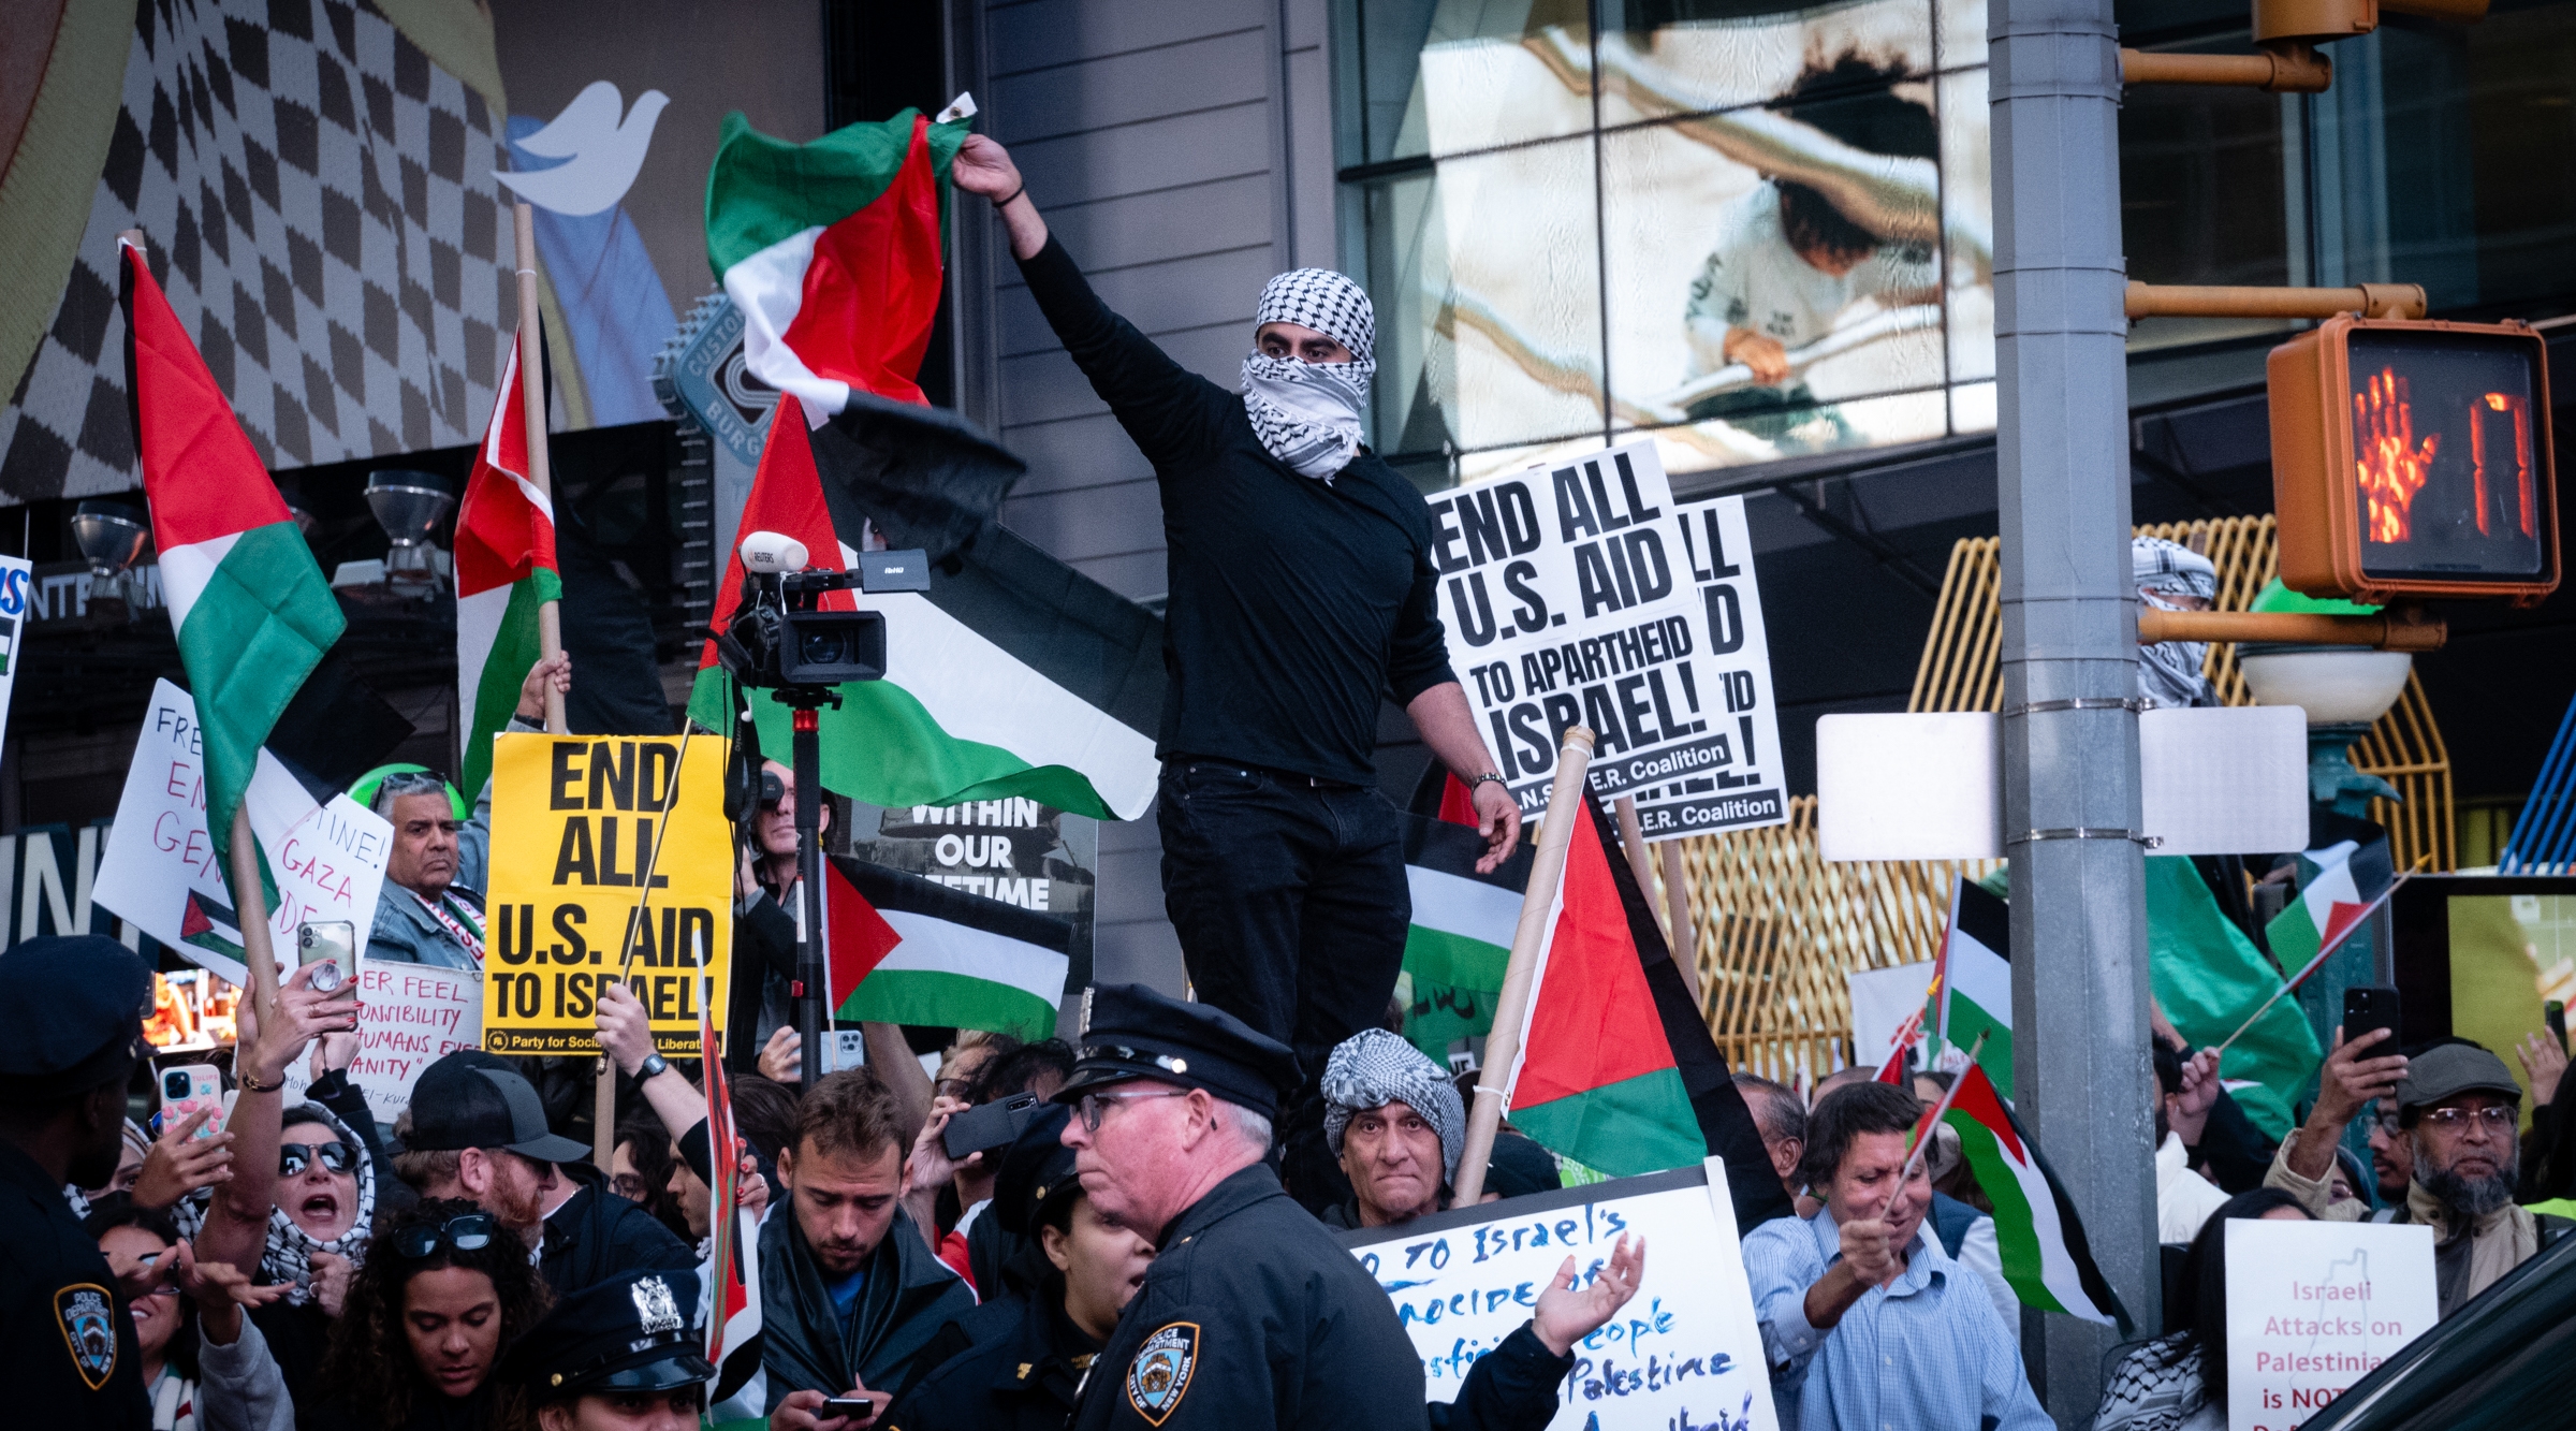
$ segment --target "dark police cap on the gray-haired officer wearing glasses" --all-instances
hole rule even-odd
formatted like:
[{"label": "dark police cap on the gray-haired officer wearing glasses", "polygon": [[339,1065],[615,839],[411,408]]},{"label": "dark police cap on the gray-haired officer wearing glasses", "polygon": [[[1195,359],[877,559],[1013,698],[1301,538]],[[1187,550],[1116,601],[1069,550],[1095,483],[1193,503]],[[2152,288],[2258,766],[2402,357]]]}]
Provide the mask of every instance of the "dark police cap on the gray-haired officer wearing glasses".
[{"label": "dark police cap on the gray-haired officer wearing glasses", "polygon": [[1059,1104],[1092,1088],[1154,1078],[1206,1088],[1270,1119],[1298,1085],[1296,1052],[1242,1018],[1162,995],[1146,985],[1092,985],[1082,993],[1082,1047]]}]

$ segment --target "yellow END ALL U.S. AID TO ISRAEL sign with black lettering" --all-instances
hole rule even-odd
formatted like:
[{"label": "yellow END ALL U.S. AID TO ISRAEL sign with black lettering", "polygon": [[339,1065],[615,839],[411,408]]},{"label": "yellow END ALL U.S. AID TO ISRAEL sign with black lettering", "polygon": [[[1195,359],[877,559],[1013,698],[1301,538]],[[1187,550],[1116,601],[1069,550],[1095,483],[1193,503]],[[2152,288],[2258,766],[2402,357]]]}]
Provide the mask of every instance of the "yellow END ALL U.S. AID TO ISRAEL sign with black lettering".
[{"label": "yellow END ALL U.S. AID TO ISRAEL sign with black lettering", "polygon": [[623,969],[654,1047],[724,1029],[734,861],[724,740],[500,735],[484,1049],[598,1052],[598,988]]}]

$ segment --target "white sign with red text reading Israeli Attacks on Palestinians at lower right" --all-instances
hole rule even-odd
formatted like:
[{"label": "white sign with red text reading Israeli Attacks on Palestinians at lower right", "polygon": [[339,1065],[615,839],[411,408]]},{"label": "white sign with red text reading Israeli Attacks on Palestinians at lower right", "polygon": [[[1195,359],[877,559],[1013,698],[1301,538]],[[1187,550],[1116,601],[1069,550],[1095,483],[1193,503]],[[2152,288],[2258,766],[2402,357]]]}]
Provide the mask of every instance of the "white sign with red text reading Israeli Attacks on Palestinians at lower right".
[{"label": "white sign with red text reading Israeli Attacks on Palestinians at lower right", "polygon": [[2228,1426],[2287,1431],[2432,1330],[2432,1227],[2233,1220]]}]

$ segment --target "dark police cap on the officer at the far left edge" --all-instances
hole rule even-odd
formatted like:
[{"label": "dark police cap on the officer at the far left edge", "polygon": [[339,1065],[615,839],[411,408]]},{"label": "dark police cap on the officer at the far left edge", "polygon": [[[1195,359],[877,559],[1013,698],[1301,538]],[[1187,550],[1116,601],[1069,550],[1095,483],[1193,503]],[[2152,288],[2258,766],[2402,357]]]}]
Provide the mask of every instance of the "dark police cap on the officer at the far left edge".
[{"label": "dark police cap on the officer at the far left edge", "polygon": [[59,1098],[152,1055],[152,969],[103,933],[28,939],[0,954],[0,1096]]}]

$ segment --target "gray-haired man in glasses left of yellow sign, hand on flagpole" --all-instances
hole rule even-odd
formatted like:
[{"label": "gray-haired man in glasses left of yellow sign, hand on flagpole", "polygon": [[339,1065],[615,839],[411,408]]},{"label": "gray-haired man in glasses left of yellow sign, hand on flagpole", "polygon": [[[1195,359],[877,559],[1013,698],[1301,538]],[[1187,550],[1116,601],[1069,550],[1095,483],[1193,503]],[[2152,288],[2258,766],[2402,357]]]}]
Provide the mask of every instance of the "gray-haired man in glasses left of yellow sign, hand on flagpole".
[{"label": "gray-haired man in glasses left of yellow sign, hand on flagpole", "polygon": [[[544,730],[546,686],[572,691],[572,657],[528,668],[510,730]],[[456,817],[448,781],[433,771],[397,771],[376,786],[376,815],[394,828],[376,895],[366,957],[379,962],[482,969],[482,892],[492,856],[492,784],[474,799],[474,817]]]}]

